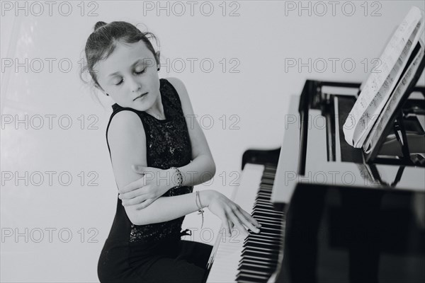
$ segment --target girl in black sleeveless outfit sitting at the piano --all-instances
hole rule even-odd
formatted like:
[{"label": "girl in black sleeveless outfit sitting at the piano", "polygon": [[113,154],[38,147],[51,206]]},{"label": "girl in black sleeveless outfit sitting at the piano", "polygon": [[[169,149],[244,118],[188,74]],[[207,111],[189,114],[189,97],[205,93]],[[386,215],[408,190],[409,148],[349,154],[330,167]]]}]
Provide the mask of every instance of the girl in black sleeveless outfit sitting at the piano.
[{"label": "girl in black sleeveless outfit sitting at the piano", "polygon": [[[220,217],[227,235],[259,223],[215,190],[193,192],[215,163],[179,79],[159,79],[159,52],[125,22],[98,22],[86,47],[92,83],[115,101],[106,141],[118,190],[115,218],[98,260],[101,282],[202,282],[212,246],[181,240],[186,214]],[[188,124],[191,122],[191,124]],[[193,127],[187,127],[193,125]],[[149,166],[147,175],[132,165]],[[196,172],[196,174],[193,174]],[[165,176],[165,177],[164,177]]]}]

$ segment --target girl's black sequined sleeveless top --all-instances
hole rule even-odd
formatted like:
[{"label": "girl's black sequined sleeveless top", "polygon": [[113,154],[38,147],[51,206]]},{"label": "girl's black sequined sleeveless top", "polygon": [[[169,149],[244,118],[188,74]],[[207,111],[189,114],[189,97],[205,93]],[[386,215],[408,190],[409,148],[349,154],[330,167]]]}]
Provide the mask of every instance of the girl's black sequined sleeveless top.
[{"label": "girl's black sequined sleeveless top", "polygon": [[[135,112],[142,120],[143,127],[145,127],[148,167],[168,169],[172,166],[185,166],[191,162],[191,140],[183,110],[181,109],[179,94],[166,79],[160,79],[159,82],[159,91],[166,120],[158,120],[147,112],[123,108],[116,103],[112,105],[113,112],[109,119],[108,127],[106,127],[106,142],[111,162],[108,129],[113,116],[123,110]],[[190,192],[193,192],[193,186],[172,187],[162,197],[184,195]],[[107,241],[149,244],[159,240],[166,240],[167,238],[179,238],[181,235],[185,235],[185,233],[181,233],[181,224],[184,218],[185,216],[182,216],[161,223],[134,225],[128,219],[122,200],[117,196],[115,218],[113,219]]]}]

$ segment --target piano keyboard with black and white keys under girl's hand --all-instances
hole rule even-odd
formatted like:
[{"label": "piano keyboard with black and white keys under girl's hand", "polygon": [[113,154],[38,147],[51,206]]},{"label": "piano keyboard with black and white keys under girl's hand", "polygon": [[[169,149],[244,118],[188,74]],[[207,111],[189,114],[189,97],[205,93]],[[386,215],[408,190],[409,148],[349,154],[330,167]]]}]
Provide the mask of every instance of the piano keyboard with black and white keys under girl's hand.
[{"label": "piano keyboard with black and white keys under girl's hand", "polygon": [[232,201],[259,221],[260,233],[249,231],[244,237],[234,230],[225,238],[222,227],[208,262],[206,282],[268,282],[276,270],[285,227],[283,212],[270,202],[275,175],[276,166],[246,163]]}]

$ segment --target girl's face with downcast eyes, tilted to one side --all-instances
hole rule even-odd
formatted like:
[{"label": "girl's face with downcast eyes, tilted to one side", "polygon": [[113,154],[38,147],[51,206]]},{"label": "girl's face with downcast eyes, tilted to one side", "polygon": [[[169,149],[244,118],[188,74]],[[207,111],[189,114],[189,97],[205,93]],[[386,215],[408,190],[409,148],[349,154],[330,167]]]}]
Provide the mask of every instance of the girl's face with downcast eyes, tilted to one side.
[{"label": "girl's face with downcast eyes, tilted to one side", "polygon": [[158,67],[154,54],[140,40],[130,45],[118,43],[108,59],[95,64],[94,71],[103,91],[115,103],[146,111],[161,99]]}]

